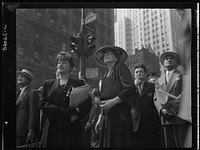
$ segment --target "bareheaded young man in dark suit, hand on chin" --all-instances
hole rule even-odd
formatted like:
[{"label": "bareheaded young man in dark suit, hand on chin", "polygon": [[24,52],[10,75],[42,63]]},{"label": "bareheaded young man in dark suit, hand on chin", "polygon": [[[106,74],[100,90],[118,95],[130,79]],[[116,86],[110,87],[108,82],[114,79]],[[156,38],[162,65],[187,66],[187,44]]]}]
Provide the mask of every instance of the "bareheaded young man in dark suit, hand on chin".
[{"label": "bareheaded young man in dark suit, hand on chin", "polygon": [[[153,102],[155,84],[147,82],[146,67],[137,64],[134,68],[136,97],[133,99],[132,118],[134,147],[160,147],[160,120]],[[133,111],[134,110],[134,111]],[[135,113],[137,112],[137,115]]]}]

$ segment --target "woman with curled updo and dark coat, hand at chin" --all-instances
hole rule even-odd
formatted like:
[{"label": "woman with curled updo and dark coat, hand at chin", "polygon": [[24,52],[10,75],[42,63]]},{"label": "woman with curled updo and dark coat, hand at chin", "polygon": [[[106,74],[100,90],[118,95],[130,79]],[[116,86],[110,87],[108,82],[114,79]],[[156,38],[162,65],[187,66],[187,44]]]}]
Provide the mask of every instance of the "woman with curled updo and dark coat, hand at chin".
[{"label": "woman with curled updo and dark coat, hand at chin", "polygon": [[70,53],[61,51],[57,55],[56,62],[56,72],[59,74],[59,78],[44,82],[39,102],[42,112],[47,118],[41,145],[47,148],[83,147],[80,120],[89,113],[92,101],[88,97],[88,100],[77,107],[69,105],[71,89],[85,83],[83,80],[69,77],[74,67]]}]

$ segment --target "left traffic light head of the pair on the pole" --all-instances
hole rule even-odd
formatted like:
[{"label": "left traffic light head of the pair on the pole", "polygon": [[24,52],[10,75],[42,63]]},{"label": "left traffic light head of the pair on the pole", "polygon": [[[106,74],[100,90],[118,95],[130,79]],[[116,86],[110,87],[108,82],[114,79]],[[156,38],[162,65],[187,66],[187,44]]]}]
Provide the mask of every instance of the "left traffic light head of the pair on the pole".
[{"label": "left traffic light head of the pair on the pole", "polygon": [[70,44],[71,52],[75,52],[78,57],[81,55],[82,39],[80,36],[71,36],[72,43]]}]

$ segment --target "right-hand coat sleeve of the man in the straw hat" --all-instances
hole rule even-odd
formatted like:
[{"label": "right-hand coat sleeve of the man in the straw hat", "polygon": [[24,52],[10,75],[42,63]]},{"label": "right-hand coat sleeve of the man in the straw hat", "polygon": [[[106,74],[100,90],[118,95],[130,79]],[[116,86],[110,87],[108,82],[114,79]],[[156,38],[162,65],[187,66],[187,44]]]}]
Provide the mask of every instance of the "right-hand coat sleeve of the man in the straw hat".
[{"label": "right-hand coat sleeve of the man in the straw hat", "polygon": [[29,98],[30,113],[29,113],[28,129],[33,129],[34,131],[38,131],[40,122],[40,108],[38,105],[38,101],[39,101],[39,95],[37,91],[31,90]]}]

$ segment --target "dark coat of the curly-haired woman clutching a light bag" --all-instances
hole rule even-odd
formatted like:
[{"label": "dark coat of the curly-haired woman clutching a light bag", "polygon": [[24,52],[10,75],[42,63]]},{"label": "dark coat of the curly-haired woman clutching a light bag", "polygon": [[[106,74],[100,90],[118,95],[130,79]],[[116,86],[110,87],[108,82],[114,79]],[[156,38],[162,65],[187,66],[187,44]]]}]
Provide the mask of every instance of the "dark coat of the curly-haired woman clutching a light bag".
[{"label": "dark coat of the curly-haired woman clutching a light bag", "polygon": [[[41,138],[41,147],[69,148],[83,147],[80,120],[86,116],[92,106],[91,98],[78,106],[78,119],[71,121],[69,115],[69,96],[66,92],[71,86],[84,85],[83,80],[69,78],[67,85],[61,90],[59,80],[44,82],[40,99],[40,107],[47,118]],[[63,109],[64,108],[64,109]]]}]

